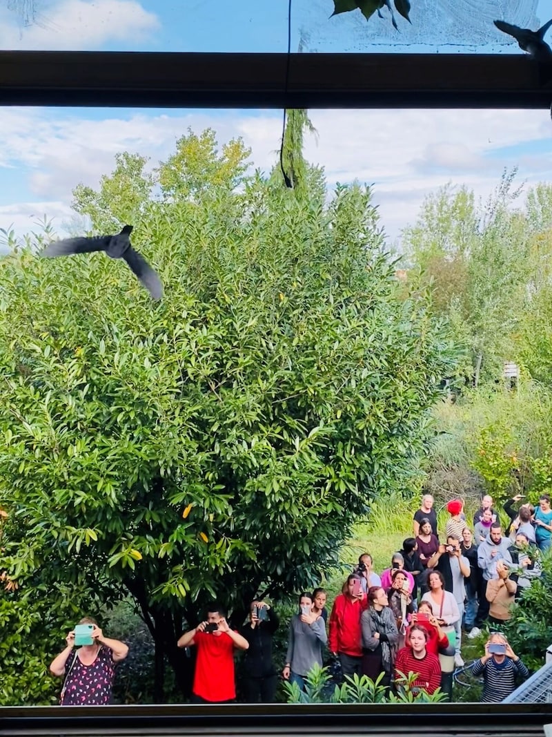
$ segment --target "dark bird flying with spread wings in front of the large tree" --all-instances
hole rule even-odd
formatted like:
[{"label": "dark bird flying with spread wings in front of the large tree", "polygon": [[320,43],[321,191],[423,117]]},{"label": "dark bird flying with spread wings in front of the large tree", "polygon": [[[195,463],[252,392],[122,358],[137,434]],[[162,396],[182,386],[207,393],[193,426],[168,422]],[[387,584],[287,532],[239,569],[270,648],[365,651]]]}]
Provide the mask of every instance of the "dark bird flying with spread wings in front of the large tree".
[{"label": "dark bird flying with spread wings in front of the large tree", "polygon": [[124,259],[130,269],[146,287],[153,299],[163,296],[163,284],[158,273],[152,269],[144,256],[138,254],[130,245],[132,226],[124,226],[116,235],[100,235],[93,238],[66,238],[55,240],[41,252],[40,256],[52,259],[54,256],[70,256],[71,254],[91,254],[93,251],[105,251],[111,259]]}]

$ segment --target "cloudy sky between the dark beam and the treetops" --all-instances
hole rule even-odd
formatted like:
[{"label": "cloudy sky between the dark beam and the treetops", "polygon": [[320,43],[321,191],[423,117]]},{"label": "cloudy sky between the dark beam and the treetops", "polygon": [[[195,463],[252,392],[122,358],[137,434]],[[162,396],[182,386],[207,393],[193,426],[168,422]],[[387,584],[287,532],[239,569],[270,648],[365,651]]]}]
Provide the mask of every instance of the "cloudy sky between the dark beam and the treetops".
[{"label": "cloudy sky between the dark beam and the treetops", "polygon": [[[545,111],[314,110],[309,114],[319,135],[318,142],[314,136],[305,139],[307,158],[325,167],[330,186],[353,179],[374,184],[375,201],[391,237],[414,220],[424,196],[447,181],[467,184],[476,195],[486,197],[504,167],[519,164],[520,181],[552,178],[552,162],[539,157],[538,150],[531,154],[525,149],[509,150],[522,142],[547,144],[550,119]],[[44,204],[63,205],[66,219],[71,189],[79,181],[97,186],[101,175],[112,170],[118,151],[150,156],[153,166],[169,156],[188,126],[197,132],[210,126],[219,144],[243,136],[252,148],[255,167],[267,171],[275,162],[281,135],[281,116],[276,112],[110,110],[104,119],[94,117],[97,113],[91,116],[85,109],[77,116],[74,111],[1,108],[0,182],[8,180],[9,167],[24,167],[29,193]],[[503,149],[506,153],[498,156]],[[10,189],[1,185],[0,189],[0,205],[2,200],[7,204]],[[26,217],[26,210],[22,212],[18,223]],[[57,215],[57,210],[45,212]],[[0,227],[6,220],[0,209]]]}]

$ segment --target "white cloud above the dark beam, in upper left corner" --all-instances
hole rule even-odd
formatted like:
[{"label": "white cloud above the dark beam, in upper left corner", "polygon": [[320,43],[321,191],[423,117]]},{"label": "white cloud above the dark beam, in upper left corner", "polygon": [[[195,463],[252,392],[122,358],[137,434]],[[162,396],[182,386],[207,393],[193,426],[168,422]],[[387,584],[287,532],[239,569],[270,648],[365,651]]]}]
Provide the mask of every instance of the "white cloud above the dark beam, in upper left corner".
[{"label": "white cloud above the dark beam, in upper left corner", "polygon": [[[23,4],[23,3],[21,3]],[[0,49],[41,51],[99,50],[106,43],[135,44],[160,28],[158,17],[137,0],[63,0],[50,2],[35,21],[0,8]]]}]

